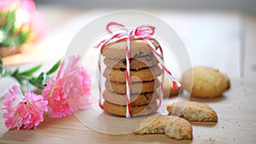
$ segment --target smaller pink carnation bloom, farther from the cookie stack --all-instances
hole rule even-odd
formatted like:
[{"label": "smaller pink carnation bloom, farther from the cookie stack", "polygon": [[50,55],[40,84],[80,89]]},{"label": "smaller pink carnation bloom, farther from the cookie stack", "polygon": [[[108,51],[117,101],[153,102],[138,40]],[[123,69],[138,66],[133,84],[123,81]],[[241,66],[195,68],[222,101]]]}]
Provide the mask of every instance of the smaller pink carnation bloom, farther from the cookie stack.
[{"label": "smaller pink carnation bloom, farther from the cookie stack", "polygon": [[20,87],[14,85],[4,95],[3,113],[5,126],[7,129],[17,129],[23,126],[24,129],[36,129],[44,121],[44,112],[47,112],[47,101],[43,100],[42,95],[26,92],[25,95],[20,91]]}]

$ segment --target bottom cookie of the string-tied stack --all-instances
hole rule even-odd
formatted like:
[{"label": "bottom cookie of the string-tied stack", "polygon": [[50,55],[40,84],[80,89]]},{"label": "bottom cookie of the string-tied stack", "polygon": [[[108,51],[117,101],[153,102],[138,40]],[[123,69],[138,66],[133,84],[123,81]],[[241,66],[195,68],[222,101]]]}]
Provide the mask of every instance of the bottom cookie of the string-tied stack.
[{"label": "bottom cookie of the string-tied stack", "polygon": [[[157,108],[158,106],[155,101],[151,102],[148,105],[131,106],[131,116],[142,116],[151,114],[156,112]],[[109,101],[103,102],[103,109],[104,111],[116,116],[125,117],[126,115],[126,106],[115,105]]]}]

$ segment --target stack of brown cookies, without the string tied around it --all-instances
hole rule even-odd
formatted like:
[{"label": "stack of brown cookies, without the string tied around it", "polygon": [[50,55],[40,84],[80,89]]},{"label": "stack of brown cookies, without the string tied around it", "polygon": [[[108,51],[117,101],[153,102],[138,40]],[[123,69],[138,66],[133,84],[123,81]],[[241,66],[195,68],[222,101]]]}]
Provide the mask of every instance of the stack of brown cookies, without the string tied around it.
[{"label": "stack of brown cookies, without the string tied around it", "polygon": [[[155,48],[159,44],[151,40]],[[105,56],[104,63],[107,66],[103,76],[107,79],[103,109],[117,116],[126,114],[126,41],[108,43],[102,50]],[[145,115],[155,112],[158,108],[156,99],[159,96],[161,75],[158,66],[159,61],[155,58],[152,49],[144,40],[131,40],[130,43],[130,93],[131,93],[131,116]]]}]

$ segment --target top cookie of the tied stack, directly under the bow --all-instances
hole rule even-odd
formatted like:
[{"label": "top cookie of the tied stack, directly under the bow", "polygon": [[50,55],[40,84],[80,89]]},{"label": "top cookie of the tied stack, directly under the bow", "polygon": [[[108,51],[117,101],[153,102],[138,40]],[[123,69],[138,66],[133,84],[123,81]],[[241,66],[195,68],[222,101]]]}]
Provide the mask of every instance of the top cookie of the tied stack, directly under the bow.
[{"label": "top cookie of the tied stack, directly under the bow", "polygon": [[[156,40],[151,39],[151,43],[155,48],[159,47],[159,43]],[[125,48],[127,41],[108,43],[104,49],[102,49],[102,55],[111,59],[125,59]],[[151,55],[152,49],[148,46],[145,40],[133,39],[130,42],[130,57],[137,58],[144,55]]]}]

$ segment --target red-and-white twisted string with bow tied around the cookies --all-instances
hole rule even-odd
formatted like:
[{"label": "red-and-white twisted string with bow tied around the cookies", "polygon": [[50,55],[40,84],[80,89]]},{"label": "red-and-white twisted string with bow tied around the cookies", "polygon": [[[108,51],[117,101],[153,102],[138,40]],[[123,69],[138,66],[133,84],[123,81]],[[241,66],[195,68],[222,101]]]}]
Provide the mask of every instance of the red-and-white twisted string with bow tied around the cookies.
[{"label": "red-and-white twisted string with bow tied around the cookies", "polygon": [[[117,32],[113,32],[110,30],[110,26],[116,26],[118,27]],[[126,118],[131,117],[131,102],[130,102],[130,42],[131,39],[143,39],[148,43],[148,46],[152,49],[154,56],[156,59],[160,62],[160,66],[162,67],[163,75],[162,80],[160,82],[160,104],[161,104],[161,98],[163,96],[163,81],[164,81],[164,73],[166,72],[168,76],[172,79],[172,85],[174,89],[177,89],[180,87],[181,84],[177,82],[177,80],[172,76],[172,73],[168,71],[168,69],[165,66],[164,60],[163,60],[163,50],[159,46],[160,54],[157,52],[157,48],[154,47],[154,44],[151,43],[150,39],[154,39],[154,26],[149,25],[142,25],[137,26],[136,29],[132,29],[129,27],[126,27],[122,24],[116,23],[116,22],[109,22],[107,27],[107,32],[112,36],[108,39],[102,40],[102,42],[98,43],[96,45],[96,48],[101,48],[101,52],[98,55],[98,89],[100,92],[99,95],[99,106],[102,108],[102,66],[101,66],[101,54],[102,50],[108,43],[114,43],[114,42],[120,42],[120,41],[127,41],[127,45],[125,48],[125,59],[126,59]]]}]

